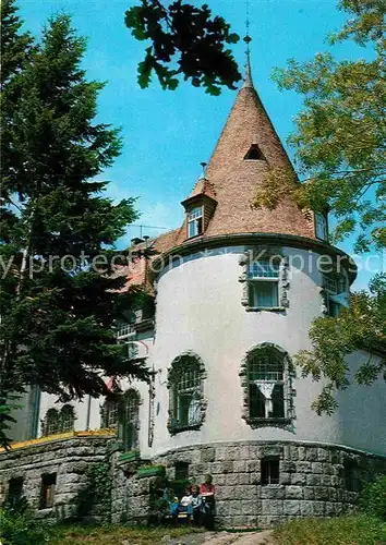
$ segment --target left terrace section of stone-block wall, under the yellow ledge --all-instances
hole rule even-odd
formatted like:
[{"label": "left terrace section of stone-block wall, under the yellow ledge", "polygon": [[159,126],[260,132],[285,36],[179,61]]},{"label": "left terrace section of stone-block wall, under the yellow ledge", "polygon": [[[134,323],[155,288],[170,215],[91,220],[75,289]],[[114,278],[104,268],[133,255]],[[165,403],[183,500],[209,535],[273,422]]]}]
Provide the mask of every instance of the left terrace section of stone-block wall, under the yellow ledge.
[{"label": "left terrace section of stone-block wall, under the yellow ledge", "polygon": [[[38,518],[73,516],[79,493],[87,485],[87,469],[105,459],[110,441],[111,436],[73,437],[0,453],[0,505],[8,496],[10,480],[21,477],[23,496]],[[53,473],[53,507],[41,509],[43,475]]]}]

